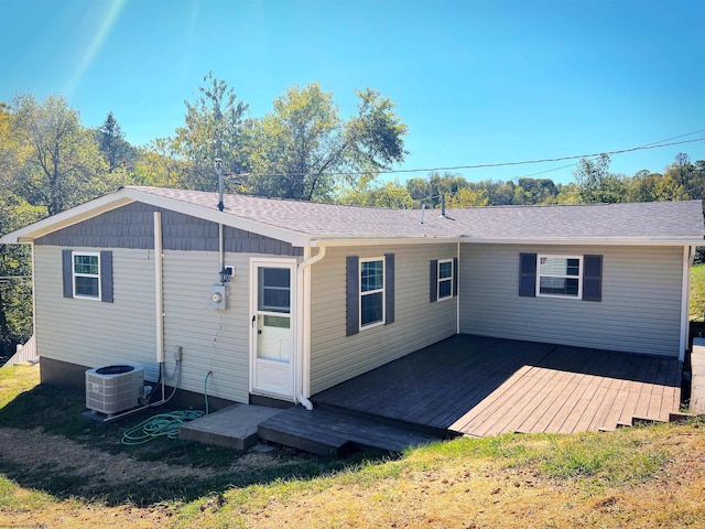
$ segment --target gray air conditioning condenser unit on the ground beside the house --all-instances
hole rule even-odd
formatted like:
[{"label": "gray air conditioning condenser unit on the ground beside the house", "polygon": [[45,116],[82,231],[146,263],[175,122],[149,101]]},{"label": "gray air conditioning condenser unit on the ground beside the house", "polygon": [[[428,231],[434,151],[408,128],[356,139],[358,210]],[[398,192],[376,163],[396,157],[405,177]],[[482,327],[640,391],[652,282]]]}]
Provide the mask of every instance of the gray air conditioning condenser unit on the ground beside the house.
[{"label": "gray air conditioning condenser unit on the ground beside the house", "polygon": [[118,364],[86,371],[86,408],[112,415],[140,406],[144,395],[144,368]]}]

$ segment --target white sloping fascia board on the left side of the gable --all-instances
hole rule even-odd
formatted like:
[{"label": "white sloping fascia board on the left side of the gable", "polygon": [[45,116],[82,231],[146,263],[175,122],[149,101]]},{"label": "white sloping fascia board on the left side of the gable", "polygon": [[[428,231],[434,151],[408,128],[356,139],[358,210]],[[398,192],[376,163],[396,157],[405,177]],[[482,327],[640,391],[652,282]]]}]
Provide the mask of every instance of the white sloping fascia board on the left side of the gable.
[{"label": "white sloping fascia board on the left side of the gable", "polygon": [[74,224],[78,224],[102,213],[131,204],[133,199],[126,195],[123,191],[118,191],[113,194],[86,202],[85,204],[72,207],[65,212],[30,224],[24,228],[3,235],[2,238],[0,238],[0,242],[3,245],[30,244],[52,231],[73,226]]}]

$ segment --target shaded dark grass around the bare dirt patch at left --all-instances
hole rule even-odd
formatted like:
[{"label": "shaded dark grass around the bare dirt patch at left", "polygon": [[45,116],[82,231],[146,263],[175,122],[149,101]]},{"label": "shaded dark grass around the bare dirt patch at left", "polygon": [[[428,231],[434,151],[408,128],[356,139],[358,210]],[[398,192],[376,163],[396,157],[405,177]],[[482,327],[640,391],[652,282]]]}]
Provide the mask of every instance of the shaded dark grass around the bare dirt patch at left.
[{"label": "shaded dark grass around the bare dirt patch at left", "polygon": [[[87,476],[70,464],[57,464],[53,454],[35,454],[34,462],[11,461],[0,449],[0,472],[20,486],[44,490],[57,498],[68,497],[107,505],[130,503],[148,506],[159,501],[189,501],[232,487],[267,484],[275,481],[311,478],[340,471],[362,461],[373,461],[388,454],[354,454],[347,460],[328,460],[289,449],[273,449],[263,454],[265,465],[238,465],[248,457],[235,450],[206,446],[199,443],[155,439],[138,446],[126,446],[120,440],[124,430],[156,413],[173,411],[166,407],[152,408],[110,423],[85,419],[83,390],[36,386],[19,395],[0,409],[0,425],[28,430],[26,443],[32,443],[33,430],[58,435],[80,445],[117,456],[119,473],[126,460],[160,462],[181,471],[198,468],[205,478],[170,477],[149,472],[139,479],[111,481]],[[61,441],[58,441],[61,442]],[[44,457],[45,455],[45,457]],[[124,457],[124,460],[122,458]],[[148,465],[149,468],[149,465]],[[175,473],[178,474],[178,473]],[[183,476],[183,474],[182,474]]]}]

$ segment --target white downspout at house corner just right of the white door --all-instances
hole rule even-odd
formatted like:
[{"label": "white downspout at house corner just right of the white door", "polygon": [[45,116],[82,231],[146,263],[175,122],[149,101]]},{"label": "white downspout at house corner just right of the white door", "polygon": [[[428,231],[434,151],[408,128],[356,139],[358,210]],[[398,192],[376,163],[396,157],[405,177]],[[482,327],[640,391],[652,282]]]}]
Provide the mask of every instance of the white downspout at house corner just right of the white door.
[{"label": "white downspout at house corner just right of the white door", "polygon": [[[311,253],[311,249],[304,250],[307,255]],[[306,393],[308,392],[308,377],[311,376],[311,282],[307,281],[304,285],[305,272],[311,272],[308,269],[311,266],[321,261],[326,257],[326,247],[322,246],[318,249],[318,253],[313,257],[307,257],[296,267],[296,283],[297,283],[297,307],[296,307],[296,349],[297,354],[297,367],[296,367],[296,400],[301,402],[308,411],[313,410],[313,403],[308,400]]]}]

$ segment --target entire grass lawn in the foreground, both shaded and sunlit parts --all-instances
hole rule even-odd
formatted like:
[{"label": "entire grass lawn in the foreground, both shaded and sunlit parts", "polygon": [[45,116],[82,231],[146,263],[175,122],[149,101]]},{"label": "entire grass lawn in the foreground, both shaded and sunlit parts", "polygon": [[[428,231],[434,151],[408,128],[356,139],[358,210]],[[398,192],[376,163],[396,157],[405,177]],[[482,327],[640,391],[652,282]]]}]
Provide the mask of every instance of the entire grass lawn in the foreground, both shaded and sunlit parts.
[{"label": "entire grass lawn in the foreground, both shaded and sunlit parts", "polygon": [[83,392],[0,369],[0,525],[32,527],[705,527],[705,420],[459,439],[332,461],[160,439],[120,444]]}]

